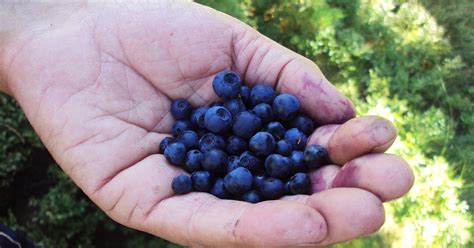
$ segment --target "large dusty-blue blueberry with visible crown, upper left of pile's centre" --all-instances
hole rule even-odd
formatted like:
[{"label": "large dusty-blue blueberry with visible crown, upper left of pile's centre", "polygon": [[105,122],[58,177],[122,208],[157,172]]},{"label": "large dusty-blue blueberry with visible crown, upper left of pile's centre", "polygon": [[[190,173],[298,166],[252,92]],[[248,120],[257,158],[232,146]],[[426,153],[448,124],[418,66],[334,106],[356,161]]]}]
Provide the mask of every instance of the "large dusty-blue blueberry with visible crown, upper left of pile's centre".
[{"label": "large dusty-blue blueberry with visible crown, upper left of pile's centre", "polygon": [[209,108],[204,116],[206,128],[214,133],[220,133],[227,130],[232,123],[232,115],[224,107]]}]

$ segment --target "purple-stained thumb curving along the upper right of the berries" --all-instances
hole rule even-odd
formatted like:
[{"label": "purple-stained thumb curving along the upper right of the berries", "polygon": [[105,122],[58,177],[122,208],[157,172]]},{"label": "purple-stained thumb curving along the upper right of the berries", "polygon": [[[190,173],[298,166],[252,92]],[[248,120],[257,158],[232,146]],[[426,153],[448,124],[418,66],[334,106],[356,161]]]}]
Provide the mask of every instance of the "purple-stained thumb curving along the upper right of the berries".
[{"label": "purple-stained thumb curving along the upper right of the berries", "polygon": [[305,113],[318,124],[343,123],[355,116],[343,96],[309,59],[281,46],[251,27],[234,28],[234,66],[253,85],[264,82],[297,96]]}]

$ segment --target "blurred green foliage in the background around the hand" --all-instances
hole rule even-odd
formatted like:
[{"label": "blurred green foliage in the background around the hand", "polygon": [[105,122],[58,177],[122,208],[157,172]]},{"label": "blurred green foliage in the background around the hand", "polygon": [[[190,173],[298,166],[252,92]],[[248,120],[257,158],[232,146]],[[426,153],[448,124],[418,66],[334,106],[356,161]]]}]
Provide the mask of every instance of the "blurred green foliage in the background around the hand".
[{"label": "blurred green foliage in the background around the hand", "polygon": [[[474,247],[474,1],[200,0],[315,61],[358,115],[394,122],[416,182],[340,247]],[[0,223],[43,247],[178,247],[109,220],[0,95]]]}]

